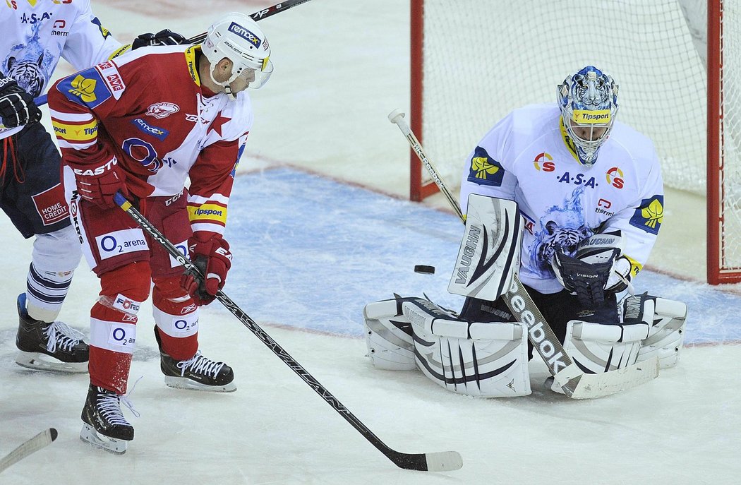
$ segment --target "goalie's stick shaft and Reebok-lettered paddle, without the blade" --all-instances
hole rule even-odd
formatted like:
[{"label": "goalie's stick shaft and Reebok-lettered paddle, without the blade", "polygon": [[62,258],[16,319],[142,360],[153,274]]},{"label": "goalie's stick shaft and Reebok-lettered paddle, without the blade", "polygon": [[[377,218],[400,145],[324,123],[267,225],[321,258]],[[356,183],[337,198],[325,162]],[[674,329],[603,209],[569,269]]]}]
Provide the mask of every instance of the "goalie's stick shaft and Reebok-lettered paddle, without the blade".
[{"label": "goalie's stick shaft and Reebok-lettered paddle, without the blade", "polygon": [[[445,182],[442,181],[442,178],[425,154],[425,149],[422,148],[422,144],[419,143],[419,140],[414,136],[414,132],[411,131],[411,128],[409,128],[409,125],[405,122],[404,113],[399,110],[393,110],[389,113],[388,120],[398,126],[399,130],[401,130],[404,136],[406,136],[407,141],[411,145],[416,156],[419,158],[419,161],[422,162],[422,165],[424,165],[425,168],[427,168],[437,187],[440,189],[442,194],[445,195],[445,198],[448,199],[448,203],[453,208],[453,211],[455,211],[460,220],[465,224],[465,216],[461,211],[459,202],[455,197],[453,197],[451,192],[448,190],[448,187],[445,186]],[[516,272],[514,274],[513,284],[504,295],[504,299],[516,320],[527,323],[528,329],[534,329],[535,327],[539,329],[539,332],[528,331],[528,338],[540,357],[545,361],[545,365],[548,366],[548,371],[551,372],[551,375],[556,375],[560,370],[562,370],[559,369],[559,366],[565,368],[574,365],[571,357],[568,357],[568,354],[566,354],[566,351],[563,349],[563,346],[556,337],[553,329],[548,325],[548,321],[545,320],[545,317],[543,317],[542,313],[535,305],[535,302],[528,294],[528,291],[525,290],[525,286],[522,286],[522,283],[520,283],[519,276]],[[541,338],[536,338],[534,333]],[[566,395],[569,397],[574,395],[576,386],[579,384],[579,379],[580,376],[577,375],[573,379],[568,380],[568,382],[562,386]]]}]

